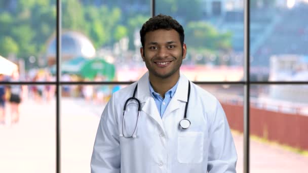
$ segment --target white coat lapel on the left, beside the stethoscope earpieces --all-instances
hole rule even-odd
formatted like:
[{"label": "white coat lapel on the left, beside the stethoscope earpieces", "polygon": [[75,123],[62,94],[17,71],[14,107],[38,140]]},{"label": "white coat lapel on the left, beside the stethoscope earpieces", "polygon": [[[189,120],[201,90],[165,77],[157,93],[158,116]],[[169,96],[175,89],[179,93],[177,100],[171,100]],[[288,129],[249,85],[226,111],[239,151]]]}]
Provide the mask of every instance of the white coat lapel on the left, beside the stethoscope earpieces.
[{"label": "white coat lapel on the left, beside the stethoscope earpieces", "polygon": [[150,95],[148,80],[148,72],[146,72],[138,81],[137,98],[141,102],[141,110],[155,120],[165,132],[163,121],[158,112],[155,100]]}]

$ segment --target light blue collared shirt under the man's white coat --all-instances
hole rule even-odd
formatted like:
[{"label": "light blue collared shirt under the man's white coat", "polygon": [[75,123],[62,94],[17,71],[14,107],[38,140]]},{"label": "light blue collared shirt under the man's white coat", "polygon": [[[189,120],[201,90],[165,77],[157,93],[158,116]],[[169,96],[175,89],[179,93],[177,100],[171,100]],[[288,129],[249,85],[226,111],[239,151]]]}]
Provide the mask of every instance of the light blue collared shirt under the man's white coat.
[{"label": "light blue collared shirt under the man's white coat", "polygon": [[178,83],[179,83],[179,81],[177,81],[176,84],[169,91],[167,91],[165,93],[165,98],[163,98],[160,94],[156,93],[153,90],[152,85],[149,82],[150,93],[155,100],[157,109],[158,109],[159,113],[161,114],[161,117],[163,117],[164,112],[165,112],[170,100],[174,96],[174,93],[176,91]]}]

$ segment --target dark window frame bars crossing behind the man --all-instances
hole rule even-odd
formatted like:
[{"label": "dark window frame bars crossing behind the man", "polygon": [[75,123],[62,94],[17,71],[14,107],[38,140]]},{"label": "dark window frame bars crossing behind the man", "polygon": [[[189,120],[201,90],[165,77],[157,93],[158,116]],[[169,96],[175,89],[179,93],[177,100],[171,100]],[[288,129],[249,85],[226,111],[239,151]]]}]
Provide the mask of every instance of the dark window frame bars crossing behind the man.
[{"label": "dark window frame bars crossing behind the man", "polygon": [[[251,81],[250,80],[250,0],[244,1],[244,81],[192,81],[196,84],[241,84],[244,86],[244,160],[243,172],[250,172],[250,134],[249,134],[249,107],[250,107],[250,85],[272,85],[272,84],[308,84],[308,81]],[[151,0],[150,15],[155,16],[155,0]],[[0,82],[1,84],[17,85],[56,85],[56,172],[61,172],[61,132],[60,132],[60,103],[61,103],[61,86],[62,85],[84,85],[84,84],[131,84],[133,81],[87,81],[87,82],[63,82],[61,81],[61,0],[56,0],[56,81],[46,82],[26,82],[18,81]]]}]

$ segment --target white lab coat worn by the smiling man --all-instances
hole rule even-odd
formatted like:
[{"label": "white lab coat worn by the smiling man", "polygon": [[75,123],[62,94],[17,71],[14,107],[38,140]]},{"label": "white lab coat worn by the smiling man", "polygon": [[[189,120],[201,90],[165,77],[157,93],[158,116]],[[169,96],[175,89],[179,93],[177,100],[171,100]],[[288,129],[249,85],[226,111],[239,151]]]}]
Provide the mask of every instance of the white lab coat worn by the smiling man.
[{"label": "white lab coat worn by the smiling man", "polygon": [[[237,153],[233,137],[217,99],[190,83],[187,119],[191,125],[188,129],[180,129],[188,79],[180,74],[177,90],[162,118],[148,84],[147,72],[138,81],[136,93],[142,107],[136,138],[121,137],[124,104],[133,96],[136,82],[110,98],[99,122],[91,172],[236,172]],[[134,127],[125,128],[131,130]]]}]

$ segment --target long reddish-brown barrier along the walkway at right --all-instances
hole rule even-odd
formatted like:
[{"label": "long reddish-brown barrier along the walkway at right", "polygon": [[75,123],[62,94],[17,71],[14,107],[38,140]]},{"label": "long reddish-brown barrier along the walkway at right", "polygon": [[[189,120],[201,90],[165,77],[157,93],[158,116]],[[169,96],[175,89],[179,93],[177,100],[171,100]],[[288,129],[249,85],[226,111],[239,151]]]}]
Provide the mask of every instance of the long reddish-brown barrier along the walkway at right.
[{"label": "long reddish-brown barrier along the walkway at right", "polygon": [[[230,128],[243,132],[243,106],[221,104]],[[308,116],[250,108],[250,134],[308,150]]]}]

